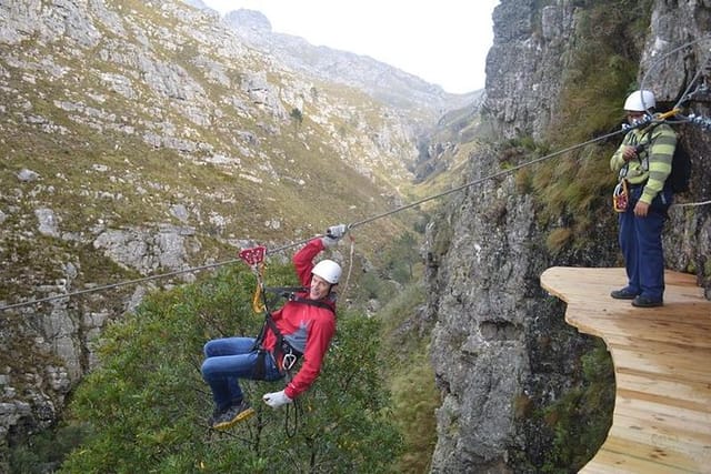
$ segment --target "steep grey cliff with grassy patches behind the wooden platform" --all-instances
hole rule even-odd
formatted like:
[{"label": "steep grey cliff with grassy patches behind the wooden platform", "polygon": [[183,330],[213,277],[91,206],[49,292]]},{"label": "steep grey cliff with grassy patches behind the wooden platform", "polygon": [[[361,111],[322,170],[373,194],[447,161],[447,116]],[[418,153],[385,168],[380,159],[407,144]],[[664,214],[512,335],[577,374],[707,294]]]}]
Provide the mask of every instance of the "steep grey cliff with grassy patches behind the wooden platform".
[{"label": "steep grey cliff with grassy patches behind the wooden platform", "polygon": [[[622,100],[639,83],[657,92],[661,108],[704,83],[708,2],[541,3],[503,0],[494,11],[484,109],[511,143],[537,143],[538,155],[554,151],[550,144],[573,145],[619,129]],[[684,107],[709,117],[703,89]],[[709,132],[688,123],[677,130],[694,165],[692,190],[679,201],[708,200]],[[565,326],[563,307],[541,291],[539,275],[550,265],[621,264],[608,204],[614,177],[591,188],[584,206],[572,202],[582,199],[575,186],[583,172],[609,173],[620,139],[539,165],[532,182],[523,171],[470,188],[431,224],[429,312],[437,321],[432,361],[442,395],[432,472],[553,472],[547,470],[560,455],[555,437],[573,445],[584,436],[590,417],[583,407],[573,404],[565,425],[554,406],[587,390],[581,367],[594,341]],[[464,181],[518,164],[502,158],[511,150],[472,154]],[[542,194],[554,200],[542,204]],[[582,215],[594,222],[578,226]],[[711,208],[678,206],[670,215],[668,266],[694,273],[711,297]],[[555,245],[554,235],[569,239]],[[597,416],[611,410],[600,406]],[[575,472],[584,461],[567,468]]]}]

